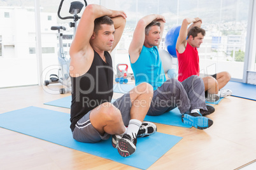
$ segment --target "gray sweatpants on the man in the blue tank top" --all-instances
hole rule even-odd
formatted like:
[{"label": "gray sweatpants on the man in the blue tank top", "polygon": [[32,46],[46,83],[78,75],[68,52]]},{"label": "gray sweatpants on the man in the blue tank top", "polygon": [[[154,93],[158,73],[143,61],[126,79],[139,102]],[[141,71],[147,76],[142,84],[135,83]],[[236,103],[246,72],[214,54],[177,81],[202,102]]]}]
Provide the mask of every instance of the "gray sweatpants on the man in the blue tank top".
[{"label": "gray sweatpants on the man in the blue tank top", "polygon": [[204,82],[192,75],[179,82],[169,79],[153,92],[148,115],[161,115],[178,107],[181,114],[194,108],[207,110],[204,97]]}]

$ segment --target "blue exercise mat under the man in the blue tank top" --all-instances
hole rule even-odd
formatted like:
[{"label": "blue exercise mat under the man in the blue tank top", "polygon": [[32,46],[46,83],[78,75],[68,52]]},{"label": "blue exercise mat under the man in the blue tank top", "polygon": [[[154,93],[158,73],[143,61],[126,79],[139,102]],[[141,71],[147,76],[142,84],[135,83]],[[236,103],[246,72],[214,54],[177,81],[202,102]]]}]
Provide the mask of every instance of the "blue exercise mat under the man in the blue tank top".
[{"label": "blue exercise mat under the man in the blue tank top", "polygon": [[[112,99],[111,103],[113,103],[115,99]],[[52,105],[55,107],[64,107],[64,108],[70,108],[71,107],[71,96],[67,96],[64,98],[60,98],[58,100],[53,100],[48,103],[45,103],[45,105]],[[192,126],[183,124],[181,121],[181,114],[178,108],[174,108],[170,112],[167,112],[162,115],[157,115],[157,116],[150,116],[146,115],[145,121],[150,121],[150,122],[156,122],[160,124],[167,124],[171,126],[179,126],[183,128],[191,128]]]}]

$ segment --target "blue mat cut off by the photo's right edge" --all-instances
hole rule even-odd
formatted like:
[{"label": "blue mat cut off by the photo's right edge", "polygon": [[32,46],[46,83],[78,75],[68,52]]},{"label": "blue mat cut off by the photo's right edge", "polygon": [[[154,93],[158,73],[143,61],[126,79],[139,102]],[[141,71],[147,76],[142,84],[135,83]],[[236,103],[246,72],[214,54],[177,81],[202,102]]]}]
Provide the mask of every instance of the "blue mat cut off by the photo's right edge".
[{"label": "blue mat cut off by the photo's right edge", "polygon": [[231,89],[232,96],[256,100],[256,85],[229,81],[224,89]]}]

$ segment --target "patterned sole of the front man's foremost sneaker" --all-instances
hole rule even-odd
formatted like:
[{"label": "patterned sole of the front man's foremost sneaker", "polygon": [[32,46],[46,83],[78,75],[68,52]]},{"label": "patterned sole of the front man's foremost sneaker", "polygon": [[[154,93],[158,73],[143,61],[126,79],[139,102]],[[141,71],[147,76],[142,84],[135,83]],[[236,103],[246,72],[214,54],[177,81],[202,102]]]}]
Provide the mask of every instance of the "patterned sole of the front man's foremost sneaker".
[{"label": "patterned sole of the front man's foremost sneaker", "polygon": [[117,150],[122,157],[128,157],[135,152],[136,146],[131,141],[122,138],[118,141]]}]

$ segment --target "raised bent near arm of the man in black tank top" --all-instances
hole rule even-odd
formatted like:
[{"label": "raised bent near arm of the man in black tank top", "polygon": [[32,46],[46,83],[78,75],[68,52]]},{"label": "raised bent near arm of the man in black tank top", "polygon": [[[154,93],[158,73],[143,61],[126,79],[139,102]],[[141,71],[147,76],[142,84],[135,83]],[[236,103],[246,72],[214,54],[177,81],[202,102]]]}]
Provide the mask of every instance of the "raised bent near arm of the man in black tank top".
[{"label": "raised bent near arm of the man in black tank top", "polygon": [[[71,57],[71,77],[75,77],[74,74],[83,74],[90,68],[90,64],[94,58],[94,50],[92,49],[92,46],[90,46],[90,38],[94,32],[94,20],[105,15],[110,16],[111,18],[115,18],[116,16],[126,18],[124,11],[108,10],[107,8],[104,8],[104,6],[97,4],[89,4],[85,8],[76,29],[75,38],[69,49]],[[118,35],[119,34],[120,33],[118,33]]]}]

